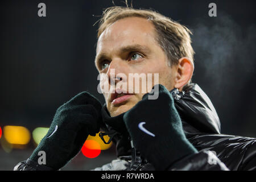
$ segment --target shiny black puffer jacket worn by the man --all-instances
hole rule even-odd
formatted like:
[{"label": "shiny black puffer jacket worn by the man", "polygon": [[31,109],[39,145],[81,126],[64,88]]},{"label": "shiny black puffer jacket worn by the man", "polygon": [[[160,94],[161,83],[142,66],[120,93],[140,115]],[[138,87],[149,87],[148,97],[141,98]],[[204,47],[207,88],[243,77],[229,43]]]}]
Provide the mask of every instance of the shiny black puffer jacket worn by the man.
[{"label": "shiny black puffer jacket worn by the man", "polygon": [[[177,161],[169,169],[255,170],[256,139],[220,134],[220,120],[203,90],[197,84],[190,84],[183,90],[171,93],[185,135],[199,152]],[[106,106],[102,107],[102,118],[109,134],[114,135],[113,142],[116,144],[118,158],[94,170],[154,170],[154,166],[131,148],[122,117],[123,114],[109,117]]]}]

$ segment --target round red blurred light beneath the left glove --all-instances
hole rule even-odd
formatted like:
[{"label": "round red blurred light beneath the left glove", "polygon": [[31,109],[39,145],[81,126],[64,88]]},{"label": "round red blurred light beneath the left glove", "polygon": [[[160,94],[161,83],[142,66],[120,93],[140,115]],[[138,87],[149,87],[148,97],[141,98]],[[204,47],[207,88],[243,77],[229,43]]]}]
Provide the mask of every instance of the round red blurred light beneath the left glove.
[{"label": "round red blurred light beneath the left glove", "polygon": [[95,140],[86,140],[81,151],[86,158],[96,158],[101,154],[101,146]]}]

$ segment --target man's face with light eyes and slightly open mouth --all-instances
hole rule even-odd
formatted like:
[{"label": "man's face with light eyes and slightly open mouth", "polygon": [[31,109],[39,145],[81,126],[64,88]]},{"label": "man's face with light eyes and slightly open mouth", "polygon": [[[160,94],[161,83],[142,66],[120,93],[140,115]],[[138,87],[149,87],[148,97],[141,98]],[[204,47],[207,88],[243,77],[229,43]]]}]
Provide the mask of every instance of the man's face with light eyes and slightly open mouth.
[{"label": "man's face with light eyes and slightly open mouth", "polygon": [[[134,93],[138,82],[129,81],[129,73],[146,76],[147,73],[152,73],[152,79],[147,77],[147,80],[152,80],[152,84],[148,82],[146,88],[150,89],[146,93],[154,86],[154,73],[159,74],[159,84],[166,86],[168,90],[174,88],[176,69],[168,65],[167,56],[155,37],[155,28],[150,20],[138,17],[120,19],[100,35],[95,61],[98,72],[108,75],[108,79],[101,79],[100,85],[109,85],[110,92],[103,94],[112,117],[131,109],[145,94],[141,89],[143,79],[139,82],[139,93]],[[114,76],[110,76],[111,69],[114,69]],[[121,75],[121,79],[115,80],[117,75]],[[111,82],[126,84],[127,87],[124,89],[121,86],[121,89],[128,94],[123,96],[113,93],[116,88],[110,87]]]}]

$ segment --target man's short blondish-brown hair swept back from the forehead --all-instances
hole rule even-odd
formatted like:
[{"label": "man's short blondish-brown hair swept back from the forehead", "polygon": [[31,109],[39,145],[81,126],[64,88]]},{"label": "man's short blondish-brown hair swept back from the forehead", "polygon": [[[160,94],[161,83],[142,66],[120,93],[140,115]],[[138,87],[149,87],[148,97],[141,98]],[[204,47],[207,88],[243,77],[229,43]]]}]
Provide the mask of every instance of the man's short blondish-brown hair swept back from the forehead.
[{"label": "man's short blondish-brown hair swept back from the forehead", "polygon": [[151,20],[156,30],[156,40],[166,53],[169,65],[177,65],[181,57],[188,57],[192,62],[195,52],[191,46],[192,32],[185,26],[152,10],[134,9],[133,7],[113,6],[105,9],[99,20],[97,38],[111,24],[119,19],[141,17]]}]

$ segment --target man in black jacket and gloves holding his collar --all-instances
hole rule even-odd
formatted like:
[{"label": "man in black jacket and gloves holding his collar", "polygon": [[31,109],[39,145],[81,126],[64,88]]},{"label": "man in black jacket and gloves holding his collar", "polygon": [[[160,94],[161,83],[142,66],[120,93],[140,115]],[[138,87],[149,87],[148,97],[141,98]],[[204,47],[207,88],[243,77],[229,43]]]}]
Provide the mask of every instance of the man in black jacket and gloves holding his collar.
[{"label": "man in black jacket and gloves holding his collar", "polygon": [[[255,139],[220,134],[212,103],[191,83],[189,34],[187,27],[151,10],[106,9],[95,59],[106,103],[82,92],[60,106],[46,137],[14,170],[60,169],[100,127],[106,131],[102,140],[108,134],[116,144],[117,159],[94,170],[256,169]],[[46,164],[38,163],[39,151],[46,152]]]}]

